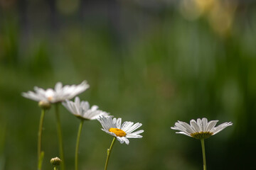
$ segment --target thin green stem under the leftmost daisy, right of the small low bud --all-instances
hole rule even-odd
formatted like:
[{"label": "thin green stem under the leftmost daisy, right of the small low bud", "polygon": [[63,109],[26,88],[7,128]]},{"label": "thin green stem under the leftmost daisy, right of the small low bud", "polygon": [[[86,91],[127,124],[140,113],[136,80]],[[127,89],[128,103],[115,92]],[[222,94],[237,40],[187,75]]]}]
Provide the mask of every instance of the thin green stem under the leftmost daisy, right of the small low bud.
[{"label": "thin green stem under the leftmost daisy, right of the small low bud", "polygon": [[59,140],[59,149],[60,149],[60,159],[61,159],[61,169],[65,170],[65,163],[64,163],[64,152],[63,152],[63,140],[62,140],[62,131],[60,125],[60,113],[58,109],[58,103],[55,103],[55,115],[57,121],[57,132],[58,132],[58,140]]}]

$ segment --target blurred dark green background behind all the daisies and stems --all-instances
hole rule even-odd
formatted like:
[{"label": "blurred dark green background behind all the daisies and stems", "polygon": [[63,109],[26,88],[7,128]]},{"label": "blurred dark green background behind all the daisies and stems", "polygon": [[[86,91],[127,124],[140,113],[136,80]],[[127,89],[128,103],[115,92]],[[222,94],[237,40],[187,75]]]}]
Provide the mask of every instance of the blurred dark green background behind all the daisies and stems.
[{"label": "blurred dark green background behind all the daisies and stems", "polygon": [[[40,109],[21,96],[56,82],[142,139],[114,145],[109,169],[203,169],[201,144],[170,127],[206,117],[233,126],[206,140],[208,169],[255,168],[256,3],[226,0],[0,0],[0,170],[36,169]],[[79,120],[61,107],[67,169]],[[79,169],[103,169],[112,137],[85,122]],[[53,109],[43,169],[58,156]]]}]

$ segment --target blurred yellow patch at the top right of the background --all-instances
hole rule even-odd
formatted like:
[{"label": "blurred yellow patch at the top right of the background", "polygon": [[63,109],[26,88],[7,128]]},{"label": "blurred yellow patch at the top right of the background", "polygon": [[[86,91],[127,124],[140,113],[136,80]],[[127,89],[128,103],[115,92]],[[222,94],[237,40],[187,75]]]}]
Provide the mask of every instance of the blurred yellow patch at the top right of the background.
[{"label": "blurred yellow patch at the top right of the background", "polygon": [[232,29],[237,6],[235,0],[182,0],[179,9],[189,21],[205,17],[214,32],[225,37]]}]

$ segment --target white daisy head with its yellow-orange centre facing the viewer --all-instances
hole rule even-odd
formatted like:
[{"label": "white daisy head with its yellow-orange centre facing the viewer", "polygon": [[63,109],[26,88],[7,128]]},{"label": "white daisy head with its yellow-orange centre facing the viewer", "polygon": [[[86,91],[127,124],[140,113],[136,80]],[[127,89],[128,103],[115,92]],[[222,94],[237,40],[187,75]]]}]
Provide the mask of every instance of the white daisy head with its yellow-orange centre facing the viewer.
[{"label": "white daisy head with its yellow-orange centre facing the viewer", "polygon": [[[102,130],[107,132],[108,134],[114,136],[119,140],[120,143],[129,144],[129,140],[127,138],[142,138],[140,133],[144,132],[144,130],[137,130],[142,126],[142,123],[133,123],[133,122],[124,122],[122,123],[122,118],[111,118],[100,116],[98,119],[102,124]],[[122,125],[121,125],[122,123]]]}]

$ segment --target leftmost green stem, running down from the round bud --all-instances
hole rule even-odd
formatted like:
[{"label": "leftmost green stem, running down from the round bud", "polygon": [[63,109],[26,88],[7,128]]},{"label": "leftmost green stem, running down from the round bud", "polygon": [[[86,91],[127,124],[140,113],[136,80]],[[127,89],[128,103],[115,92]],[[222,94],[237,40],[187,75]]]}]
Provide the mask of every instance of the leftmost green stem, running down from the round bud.
[{"label": "leftmost green stem, running down from the round bud", "polygon": [[38,170],[42,169],[43,157],[42,157],[42,132],[43,132],[43,119],[45,116],[46,110],[42,109],[41,118],[39,122],[39,129],[38,129]]}]

